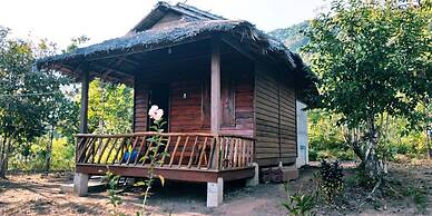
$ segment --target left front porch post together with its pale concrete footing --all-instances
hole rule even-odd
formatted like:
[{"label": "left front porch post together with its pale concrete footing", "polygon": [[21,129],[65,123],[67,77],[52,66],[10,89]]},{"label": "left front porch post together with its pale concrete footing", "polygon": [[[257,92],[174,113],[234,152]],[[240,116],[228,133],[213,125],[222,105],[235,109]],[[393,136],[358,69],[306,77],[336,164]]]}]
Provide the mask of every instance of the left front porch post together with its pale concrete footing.
[{"label": "left front porch post together with its pale concrete footing", "polygon": [[[88,118],[88,90],[89,90],[89,71],[84,70],[81,72],[81,110],[79,121],[79,132],[87,134],[87,118]],[[78,148],[76,148],[78,149]],[[77,154],[77,153],[76,153]],[[78,196],[86,196],[88,193],[88,179],[87,174],[75,173],[73,176],[73,192]]]}]

